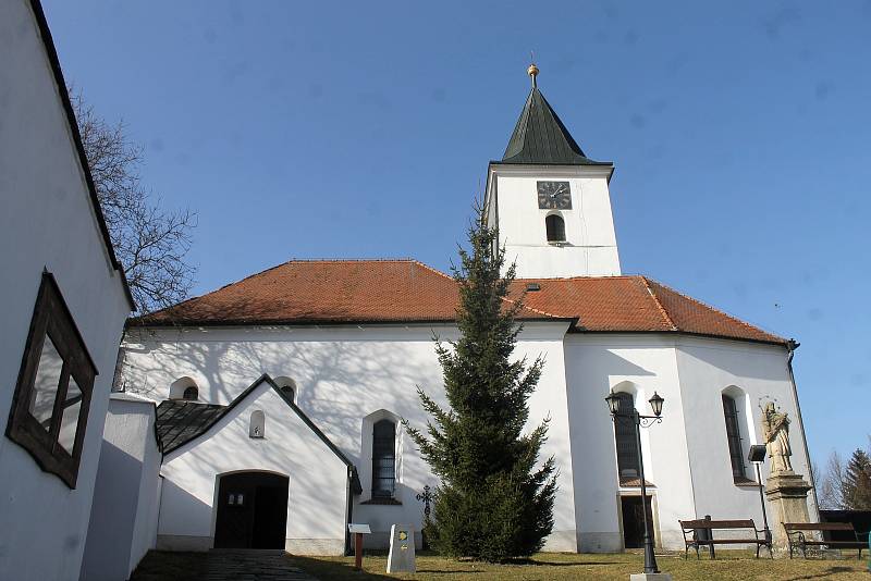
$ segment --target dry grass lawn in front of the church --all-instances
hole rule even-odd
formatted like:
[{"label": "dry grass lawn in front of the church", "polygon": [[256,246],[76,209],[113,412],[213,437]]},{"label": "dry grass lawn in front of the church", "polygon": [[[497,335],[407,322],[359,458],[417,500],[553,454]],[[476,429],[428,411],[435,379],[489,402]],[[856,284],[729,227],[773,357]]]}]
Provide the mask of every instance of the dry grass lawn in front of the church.
[{"label": "dry grass lawn in front of the church", "polygon": [[[868,581],[868,560],[858,560],[855,552],[845,552],[843,559],[755,559],[752,554],[721,551],[716,560],[684,560],[683,555],[657,557],[660,570],[670,572],[677,580],[719,581],[765,580],[798,581],[852,579]],[[457,561],[437,555],[418,554],[416,574],[387,574],[387,556],[369,555],[364,558],[364,571],[355,571],[353,557],[290,557],[300,569],[322,580],[370,581],[377,579],[415,579],[451,581],[494,580],[545,580],[594,579],[602,581],[627,581],[629,573],[641,572],[643,557],[640,554],[585,554],[540,553],[526,564],[488,565],[483,563]]]}]

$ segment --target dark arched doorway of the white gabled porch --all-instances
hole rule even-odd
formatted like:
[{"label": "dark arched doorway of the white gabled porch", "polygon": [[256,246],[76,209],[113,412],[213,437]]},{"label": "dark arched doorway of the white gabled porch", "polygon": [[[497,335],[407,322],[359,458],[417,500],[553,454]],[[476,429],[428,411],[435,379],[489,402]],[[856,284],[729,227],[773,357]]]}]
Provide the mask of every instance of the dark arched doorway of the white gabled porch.
[{"label": "dark arched doorway of the white gabled porch", "polygon": [[284,548],[290,479],[269,472],[218,479],[214,548]]}]

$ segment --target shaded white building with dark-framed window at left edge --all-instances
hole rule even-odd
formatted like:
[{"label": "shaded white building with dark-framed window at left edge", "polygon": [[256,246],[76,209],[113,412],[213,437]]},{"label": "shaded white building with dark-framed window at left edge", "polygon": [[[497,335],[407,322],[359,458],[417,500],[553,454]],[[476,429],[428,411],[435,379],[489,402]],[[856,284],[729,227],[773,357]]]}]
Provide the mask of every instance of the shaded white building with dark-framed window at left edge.
[{"label": "shaded white building with dark-framed window at left edge", "polygon": [[75,580],[132,310],[37,1],[0,2],[0,579]]}]

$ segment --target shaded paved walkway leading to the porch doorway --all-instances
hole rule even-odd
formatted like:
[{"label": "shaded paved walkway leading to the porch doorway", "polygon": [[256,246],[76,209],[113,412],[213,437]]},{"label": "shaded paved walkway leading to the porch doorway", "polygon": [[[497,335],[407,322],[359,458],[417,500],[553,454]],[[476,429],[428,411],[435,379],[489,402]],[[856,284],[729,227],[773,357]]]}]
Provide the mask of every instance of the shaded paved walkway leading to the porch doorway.
[{"label": "shaded paved walkway leading to the porch doorway", "polygon": [[131,581],[317,581],[279,551],[150,551]]}]

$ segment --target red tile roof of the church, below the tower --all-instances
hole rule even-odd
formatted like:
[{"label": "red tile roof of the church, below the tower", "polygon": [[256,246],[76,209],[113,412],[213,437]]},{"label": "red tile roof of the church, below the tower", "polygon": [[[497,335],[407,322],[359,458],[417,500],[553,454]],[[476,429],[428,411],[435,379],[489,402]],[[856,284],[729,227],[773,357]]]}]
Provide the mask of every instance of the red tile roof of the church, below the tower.
[{"label": "red tile roof of the church, below the tower", "polygon": [[[772,335],[645,276],[523,279],[524,320],[576,320],[578,332],[683,332],[785,344]],[[453,279],[415,260],[292,260],[133,325],[449,322]]]}]

